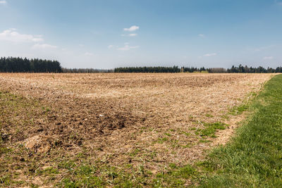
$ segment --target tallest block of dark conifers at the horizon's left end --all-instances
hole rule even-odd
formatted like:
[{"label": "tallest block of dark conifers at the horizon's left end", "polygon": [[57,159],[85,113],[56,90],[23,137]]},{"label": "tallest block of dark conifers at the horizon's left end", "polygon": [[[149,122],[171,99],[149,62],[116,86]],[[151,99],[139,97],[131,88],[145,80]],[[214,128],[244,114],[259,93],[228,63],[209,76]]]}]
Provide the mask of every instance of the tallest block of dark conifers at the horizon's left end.
[{"label": "tallest block of dark conifers at the horizon's left end", "polygon": [[0,58],[2,73],[62,73],[59,61],[38,58]]}]

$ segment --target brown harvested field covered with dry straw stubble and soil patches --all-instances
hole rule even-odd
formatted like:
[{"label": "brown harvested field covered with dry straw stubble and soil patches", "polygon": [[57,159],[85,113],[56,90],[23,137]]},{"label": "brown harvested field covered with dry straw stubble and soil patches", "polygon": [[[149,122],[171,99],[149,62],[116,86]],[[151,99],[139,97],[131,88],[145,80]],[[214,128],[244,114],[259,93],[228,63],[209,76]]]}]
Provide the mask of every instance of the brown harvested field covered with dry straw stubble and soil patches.
[{"label": "brown harvested field covered with dry straw stubble and soil patches", "polygon": [[[15,151],[10,159],[0,153],[0,168],[8,169],[2,175],[23,185],[57,185],[72,176],[59,168],[64,159],[129,173],[142,167],[153,178],[171,163],[199,161],[206,149],[225,144],[243,120],[234,109],[271,76],[1,73],[0,92],[23,104],[12,108],[0,98],[0,143]],[[213,123],[226,129],[205,135]],[[59,173],[38,173],[47,168]],[[114,186],[114,180],[106,181]]]}]

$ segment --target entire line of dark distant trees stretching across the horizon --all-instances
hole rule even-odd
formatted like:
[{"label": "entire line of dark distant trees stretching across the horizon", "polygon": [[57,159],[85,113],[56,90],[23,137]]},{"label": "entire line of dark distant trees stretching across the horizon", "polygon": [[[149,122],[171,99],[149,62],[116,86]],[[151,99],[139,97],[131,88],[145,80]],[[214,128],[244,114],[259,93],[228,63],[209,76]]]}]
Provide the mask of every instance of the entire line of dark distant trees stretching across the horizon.
[{"label": "entire line of dark distant trees stretching across the horizon", "polygon": [[59,61],[38,58],[0,58],[1,73],[282,73],[282,67],[258,68],[239,65],[231,68],[195,68],[195,67],[124,67],[114,70],[93,68],[62,68]]}]

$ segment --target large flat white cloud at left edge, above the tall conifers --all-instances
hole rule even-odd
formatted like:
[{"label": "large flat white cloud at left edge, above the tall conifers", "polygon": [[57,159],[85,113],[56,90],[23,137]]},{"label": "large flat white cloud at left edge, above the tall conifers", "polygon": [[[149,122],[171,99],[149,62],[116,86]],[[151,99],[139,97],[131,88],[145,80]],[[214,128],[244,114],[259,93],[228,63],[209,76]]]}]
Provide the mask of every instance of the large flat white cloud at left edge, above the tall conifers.
[{"label": "large flat white cloud at left edge, above the tall conifers", "polygon": [[16,32],[16,29],[9,29],[0,32],[0,41],[9,41],[9,42],[42,42],[44,39],[42,35],[26,35]]}]

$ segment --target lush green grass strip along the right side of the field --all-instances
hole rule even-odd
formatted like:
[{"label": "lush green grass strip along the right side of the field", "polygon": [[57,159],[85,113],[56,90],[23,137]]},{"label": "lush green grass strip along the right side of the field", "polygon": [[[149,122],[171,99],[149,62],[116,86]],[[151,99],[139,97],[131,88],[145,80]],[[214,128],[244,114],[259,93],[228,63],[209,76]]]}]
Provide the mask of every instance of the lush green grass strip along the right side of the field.
[{"label": "lush green grass strip along the right side of the field", "polygon": [[237,135],[199,163],[200,187],[282,187],[282,75],[265,84]]}]

